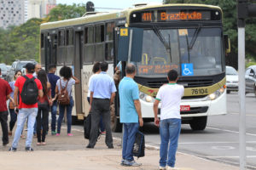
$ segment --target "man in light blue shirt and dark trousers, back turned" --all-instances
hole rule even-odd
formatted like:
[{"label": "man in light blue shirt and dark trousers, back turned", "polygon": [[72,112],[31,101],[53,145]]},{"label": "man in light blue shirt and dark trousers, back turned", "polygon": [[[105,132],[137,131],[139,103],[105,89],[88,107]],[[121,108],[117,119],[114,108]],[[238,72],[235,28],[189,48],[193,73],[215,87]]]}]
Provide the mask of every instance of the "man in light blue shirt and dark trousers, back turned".
[{"label": "man in light blue shirt and dark trousers, back turned", "polygon": [[108,63],[101,63],[102,72],[90,80],[90,111],[91,111],[91,130],[89,144],[86,148],[94,148],[99,131],[101,120],[106,128],[106,144],[109,149],[113,149],[113,138],[110,127],[110,105],[113,103],[116,88],[113,78],[107,74]]}]

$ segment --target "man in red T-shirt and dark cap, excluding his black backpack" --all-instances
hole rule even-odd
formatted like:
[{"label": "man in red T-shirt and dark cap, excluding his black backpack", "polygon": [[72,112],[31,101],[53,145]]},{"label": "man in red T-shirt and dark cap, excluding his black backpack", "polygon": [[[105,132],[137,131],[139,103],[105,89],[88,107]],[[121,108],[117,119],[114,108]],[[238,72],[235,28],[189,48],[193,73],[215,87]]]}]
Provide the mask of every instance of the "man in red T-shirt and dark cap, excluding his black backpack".
[{"label": "man in red T-shirt and dark cap, excluding his black backpack", "polygon": [[[32,63],[27,63],[26,66],[26,77],[29,79],[32,79],[33,73],[35,71],[35,65]],[[38,87],[38,96],[43,97],[43,87],[41,82],[36,78],[34,80]],[[22,88],[24,86],[24,83],[26,82],[25,77],[19,77],[15,82],[15,106],[17,105],[18,101],[18,93],[22,93]],[[17,111],[17,109],[15,109]],[[20,105],[19,105],[19,113],[18,113],[18,119],[17,119],[17,128],[15,131],[15,138],[12,144],[12,147],[9,149],[9,151],[16,151],[18,147],[18,143],[20,140],[20,134],[24,127],[24,123],[27,121],[27,136],[26,136],[26,151],[33,151],[31,144],[32,144],[32,136],[33,136],[33,127],[36,121],[36,117],[38,115],[38,102],[35,102],[33,105],[26,105],[22,102],[22,99],[20,97]]]}]

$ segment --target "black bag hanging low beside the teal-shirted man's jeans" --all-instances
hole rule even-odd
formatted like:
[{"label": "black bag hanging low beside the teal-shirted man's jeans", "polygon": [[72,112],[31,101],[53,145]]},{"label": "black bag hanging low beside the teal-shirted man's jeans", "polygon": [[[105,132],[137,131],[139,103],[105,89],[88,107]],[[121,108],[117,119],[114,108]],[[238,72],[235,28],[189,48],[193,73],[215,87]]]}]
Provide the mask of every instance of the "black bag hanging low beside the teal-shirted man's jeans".
[{"label": "black bag hanging low beside the teal-shirted man's jeans", "polygon": [[137,156],[137,158],[145,156],[145,138],[144,134],[140,131],[137,131],[136,133],[132,155]]}]

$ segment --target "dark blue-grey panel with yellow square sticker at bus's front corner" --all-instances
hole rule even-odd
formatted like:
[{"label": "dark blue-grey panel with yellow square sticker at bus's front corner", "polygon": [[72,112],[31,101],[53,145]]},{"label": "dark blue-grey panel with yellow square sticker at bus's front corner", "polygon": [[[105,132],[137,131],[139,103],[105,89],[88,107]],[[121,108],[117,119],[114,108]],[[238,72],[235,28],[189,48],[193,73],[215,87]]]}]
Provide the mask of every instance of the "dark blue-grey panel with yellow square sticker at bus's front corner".
[{"label": "dark blue-grey panel with yellow square sticker at bus's front corner", "polygon": [[141,62],[143,55],[143,29],[120,27],[118,32],[118,60]]}]

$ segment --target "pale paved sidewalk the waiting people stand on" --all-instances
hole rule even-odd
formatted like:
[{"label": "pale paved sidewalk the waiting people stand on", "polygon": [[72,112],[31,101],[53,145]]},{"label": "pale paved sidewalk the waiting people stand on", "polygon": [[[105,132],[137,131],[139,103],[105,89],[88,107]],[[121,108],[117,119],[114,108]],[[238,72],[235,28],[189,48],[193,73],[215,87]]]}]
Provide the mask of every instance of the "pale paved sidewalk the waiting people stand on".
[{"label": "pale paved sidewalk the waiting people stand on", "polygon": [[[0,133],[2,135],[2,132]],[[10,138],[12,142],[13,138]],[[105,137],[97,142],[95,149],[85,149],[88,140],[83,139],[83,133],[73,131],[73,137],[67,137],[66,129],[62,129],[61,136],[48,135],[47,145],[37,146],[33,139],[35,151],[26,152],[26,139],[20,139],[17,152],[8,152],[7,147],[0,146],[1,170],[156,170],[159,167],[159,150],[150,147],[145,150],[144,157],[136,160],[142,167],[122,167],[120,140],[114,139],[114,149],[110,150],[104,144]],[[181,170],[238,170],[238,167],[226,165],[216,161],[208,161],[195,156],[177,153],[177,167]]]}]

